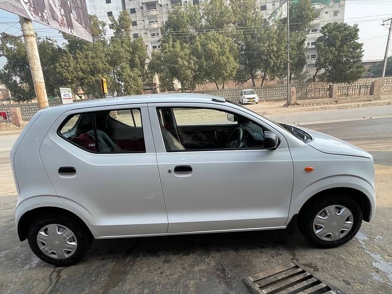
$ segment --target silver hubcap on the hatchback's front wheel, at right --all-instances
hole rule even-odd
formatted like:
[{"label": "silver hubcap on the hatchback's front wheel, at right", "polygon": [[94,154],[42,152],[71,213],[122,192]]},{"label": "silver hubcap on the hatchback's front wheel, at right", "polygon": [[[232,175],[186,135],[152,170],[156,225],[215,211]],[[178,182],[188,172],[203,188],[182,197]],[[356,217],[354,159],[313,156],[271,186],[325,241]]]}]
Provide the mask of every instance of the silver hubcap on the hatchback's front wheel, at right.
[{"label": "silver hubcap on the hatchback's front wheel, at right", "polygon": [[343,238],[351,230],[354,218],[342,205],[331,205],[320,210],[313,221],[313,232],[324,241]]}]

